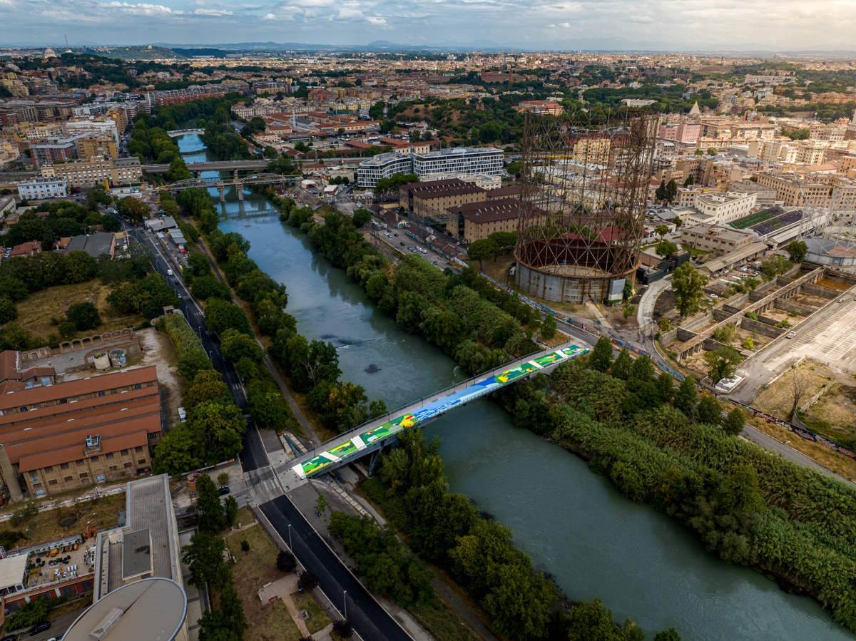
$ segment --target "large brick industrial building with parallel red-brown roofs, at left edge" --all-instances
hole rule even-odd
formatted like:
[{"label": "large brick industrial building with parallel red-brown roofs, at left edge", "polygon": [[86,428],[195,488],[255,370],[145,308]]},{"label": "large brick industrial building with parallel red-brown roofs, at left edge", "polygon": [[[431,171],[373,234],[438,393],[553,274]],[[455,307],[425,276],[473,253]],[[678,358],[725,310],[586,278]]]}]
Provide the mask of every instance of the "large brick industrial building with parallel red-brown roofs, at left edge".
[{"label": "large brick industrial building with parallel red-brown roofs, at left edge", "polygon": [[153,365],[0,395],[0,477],[13,501],[146,472],[162,436]]}]

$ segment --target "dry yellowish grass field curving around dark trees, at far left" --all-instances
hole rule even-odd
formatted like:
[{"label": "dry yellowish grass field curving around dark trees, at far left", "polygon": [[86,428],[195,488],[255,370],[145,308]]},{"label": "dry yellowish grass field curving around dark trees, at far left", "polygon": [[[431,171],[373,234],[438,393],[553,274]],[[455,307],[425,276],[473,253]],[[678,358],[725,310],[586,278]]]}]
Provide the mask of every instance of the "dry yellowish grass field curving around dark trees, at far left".
[{"label": "dry yellowish grass field curving around dark trees, at far left", "polygon": [[98,307],[102,324],[96,329],[78,332],[78,336],[104,334],[142,323],[144,318],[119,314],[108,305],[107,295],[111,291],[110,285],[104,285],[98,278],[44,289],[30,294],[27,300],[18,303],[18,322],[32,332],[33,336],[47,339],[49,335],[56,334],[56,325],[51,324],[51,318],[62,318],[68,307],[74,303],[90,302]]}]

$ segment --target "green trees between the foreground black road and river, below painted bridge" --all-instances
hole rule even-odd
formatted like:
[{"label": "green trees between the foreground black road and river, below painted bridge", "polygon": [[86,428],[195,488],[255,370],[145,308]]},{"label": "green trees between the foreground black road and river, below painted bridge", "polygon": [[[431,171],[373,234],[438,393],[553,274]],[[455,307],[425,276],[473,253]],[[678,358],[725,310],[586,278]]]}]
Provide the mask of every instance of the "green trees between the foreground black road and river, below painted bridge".
[{"label": "green trees between the foreground black road and river, below painted bridge", "polygon": [[[472,596],[490,616],[496,632],[515,639],[644,638],[632,620],[617,626],[599,599],[585,603],[564,599],[556,585],[534,571],[529,557],[514,547],[510,528],[484,518],[467,496],[449,492],[438,448],[439,439],[425,442],[421,430],[405,430],[399,447],[381,456],[377,472],[361,490],[407,534],[414,552],[449,573]],[[376,537],[389,536],[387,530],[357,517],[336,517],[330,523],[330,533],[348,549],[377,549],[364,540],[370,530]],[[401,593],[405,601],[417,597],[414,587],[421,582],[413,585],[412,579],[395,577],[390,571],[372,589]],[[676,633],[657,638],[680,639]]]}]

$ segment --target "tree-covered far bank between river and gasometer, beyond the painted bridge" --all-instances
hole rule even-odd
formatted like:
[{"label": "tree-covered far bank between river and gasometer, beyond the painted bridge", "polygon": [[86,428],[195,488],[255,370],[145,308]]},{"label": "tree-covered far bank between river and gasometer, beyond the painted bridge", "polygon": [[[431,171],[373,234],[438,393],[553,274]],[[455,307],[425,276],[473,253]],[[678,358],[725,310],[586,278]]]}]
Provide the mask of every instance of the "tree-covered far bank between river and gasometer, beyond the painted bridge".
[{"label": "tree-covered far bank between river and gasometer, beyond the painted bridge", "polygon": [[458,276],[425,258],[407,255],[397,267],[368,243],[357,227],[360,211],[339,211],[315,223],[312,210],[268,193],[280,218],[305,230],[318,251],[366,290],[366,295],[410,334],[424,335],[472,374],[537,351],[532,332],[540,315],[520,299],[490,286],[470,268]]}]

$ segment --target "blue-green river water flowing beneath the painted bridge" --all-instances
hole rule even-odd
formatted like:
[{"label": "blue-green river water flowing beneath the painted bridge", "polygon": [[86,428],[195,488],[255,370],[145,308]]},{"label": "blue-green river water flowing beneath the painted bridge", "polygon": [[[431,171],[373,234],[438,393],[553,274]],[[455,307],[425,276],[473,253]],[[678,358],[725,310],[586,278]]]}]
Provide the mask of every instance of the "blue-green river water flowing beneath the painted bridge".
[{"label": "blue-green river water flowing beneath the painted bridge", "polygon": [[[207,155],[196,135],[178,143],[188,161]],[[339,347],[342,378],[363,385],[370,398],[399,407],[464,378],[452,359],[407,335],[343,270],[313,252],[306,234],[280,223],[266,199],[247,192],[239,203],[231,190],[221,211],[220,229],[243,234],[250,257],[286,284],[300,333]],[[367,373],[369,365],[379,371]],[[425,431],[443,439],[451,490],[509,525],[514,543],[571,599],[599,596],[616,621],[631,617],[647,638],[675,626],[681,638],[697,641],[856,639],[811,598],[723,563],[574,454],[516,428],[490,401],[456,409]]]}]

